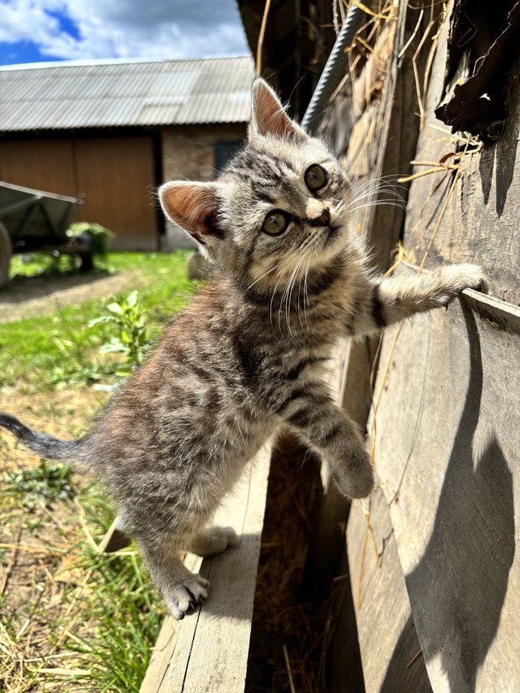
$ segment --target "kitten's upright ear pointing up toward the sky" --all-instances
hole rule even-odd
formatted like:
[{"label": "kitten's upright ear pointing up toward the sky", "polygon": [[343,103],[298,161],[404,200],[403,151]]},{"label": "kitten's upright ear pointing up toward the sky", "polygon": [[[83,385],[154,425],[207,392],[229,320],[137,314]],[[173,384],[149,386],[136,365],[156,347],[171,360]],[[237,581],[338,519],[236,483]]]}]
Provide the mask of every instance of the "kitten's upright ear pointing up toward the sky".
[{"label": "kitten's upright ear pointing up toward the sky", "polygon": [[260,77],[254,80],[251,90],[249,139],[257,134],[272,134],[283,139],[307,139],[304,130],[289,118],[275,92]]}]

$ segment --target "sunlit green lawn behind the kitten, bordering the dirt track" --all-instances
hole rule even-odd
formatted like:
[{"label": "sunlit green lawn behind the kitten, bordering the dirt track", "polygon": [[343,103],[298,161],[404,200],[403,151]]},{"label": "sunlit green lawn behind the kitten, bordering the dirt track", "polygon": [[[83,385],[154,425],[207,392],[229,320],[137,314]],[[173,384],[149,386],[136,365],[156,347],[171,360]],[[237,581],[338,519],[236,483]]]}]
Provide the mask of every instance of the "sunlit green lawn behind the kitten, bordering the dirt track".
[{"label": "sunlit green lawn behind the kitten, bordering the dirt track", "polygon": [[[150,335],[155,337],[166,319],[180,310],[196,283],[186,277],[187,251],[171,254],[110,253],[106,270],[97,274],[137,270],[144,277],[139,301],[146,311]],[[13,276],[51,275],[48,256],[35,255],[31,263],[12,262]],[[110,339],[107,325],[88,327],[90,320],[103,315],[112,296],[66,306],[53,315],[0,324],[0,387],[17,383],[31,389],[46,389],[74,382],[96,382],[110,375],[111,365],[102,365],[97,348]],[[22,381],[22,383],[20,382]]]}]

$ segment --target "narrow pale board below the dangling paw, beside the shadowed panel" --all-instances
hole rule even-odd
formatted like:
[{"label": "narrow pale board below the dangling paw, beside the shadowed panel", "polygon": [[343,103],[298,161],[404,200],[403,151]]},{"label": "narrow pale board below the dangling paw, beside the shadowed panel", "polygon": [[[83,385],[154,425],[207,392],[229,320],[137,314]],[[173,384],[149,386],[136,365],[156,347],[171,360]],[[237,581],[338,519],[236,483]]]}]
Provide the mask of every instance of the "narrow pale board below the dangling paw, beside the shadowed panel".
[{"label": "narrow pale board below the dangling paw, beside the shadowed panel", "polygon": [[352,596],[366,693],[428,693],[431,686],[415,633],[385,495],[370,500],[372,533],[359,501],[347,525]]}]

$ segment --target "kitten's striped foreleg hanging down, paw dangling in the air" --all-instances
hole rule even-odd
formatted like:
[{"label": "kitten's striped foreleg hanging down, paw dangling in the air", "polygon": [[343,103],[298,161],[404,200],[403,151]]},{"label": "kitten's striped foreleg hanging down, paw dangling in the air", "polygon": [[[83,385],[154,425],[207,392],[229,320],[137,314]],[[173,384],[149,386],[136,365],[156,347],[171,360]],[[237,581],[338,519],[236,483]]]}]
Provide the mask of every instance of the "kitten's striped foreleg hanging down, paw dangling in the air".
[{"label": "kitten's striped foreleg hanging down, paw dangling in the air", "polygon": [[295,388],[277,414],[327,460],[338,489],[349,498],[365,498],[374,486],[370,455],[356,424],[336,406],[321,383]]}]

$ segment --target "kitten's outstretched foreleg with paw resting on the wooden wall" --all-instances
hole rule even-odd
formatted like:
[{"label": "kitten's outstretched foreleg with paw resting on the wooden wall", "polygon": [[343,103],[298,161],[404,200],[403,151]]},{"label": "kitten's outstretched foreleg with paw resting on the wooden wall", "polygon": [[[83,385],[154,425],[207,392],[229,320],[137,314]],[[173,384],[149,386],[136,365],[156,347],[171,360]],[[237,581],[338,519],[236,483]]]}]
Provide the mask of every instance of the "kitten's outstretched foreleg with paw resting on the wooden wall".
[{"label": "kitten's outstretched foreleg with paw resting on the wooden wall", "polygon": [[347,317],[347,331],[372,333],[415,313],[447,306],[464,289],[486,286],[485,274],[476,265],[445,265],[404,277],[367,279]]}]

